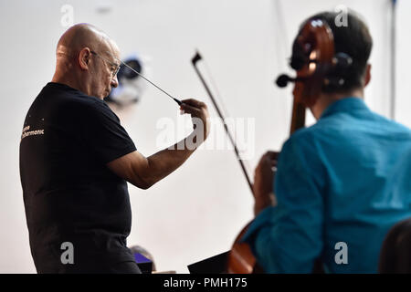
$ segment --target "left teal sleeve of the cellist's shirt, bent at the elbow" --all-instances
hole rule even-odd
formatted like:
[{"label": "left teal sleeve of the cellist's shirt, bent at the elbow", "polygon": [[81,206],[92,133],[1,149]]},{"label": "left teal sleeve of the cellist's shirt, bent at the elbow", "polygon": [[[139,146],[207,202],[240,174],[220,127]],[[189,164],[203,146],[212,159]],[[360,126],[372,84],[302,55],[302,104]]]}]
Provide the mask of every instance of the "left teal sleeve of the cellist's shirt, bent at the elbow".
[{"label": "left teal sleeve of the cellist's shirt, bent at the elbow", "polygon": [[284,144],[274,183],[278,205],[258,214],[243,237],[267,273],[311,273],[321,256],[321,168],[304,142]]}]

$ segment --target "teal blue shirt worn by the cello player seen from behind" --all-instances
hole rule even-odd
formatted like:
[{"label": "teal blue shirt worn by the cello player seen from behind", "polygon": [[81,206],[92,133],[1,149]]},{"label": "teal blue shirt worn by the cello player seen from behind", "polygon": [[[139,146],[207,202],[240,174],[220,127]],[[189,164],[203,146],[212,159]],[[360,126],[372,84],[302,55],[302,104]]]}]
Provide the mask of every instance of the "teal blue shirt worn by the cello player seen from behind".
[{"label": "teal blue shirt worn by the cello player seen from behind", "polygon": [[311,273],[321,257],[327,272],[375,273],[388,229],[411,217],[411,130],[338,100],[284,143],[274,191],[243,237],[266,272]]}]

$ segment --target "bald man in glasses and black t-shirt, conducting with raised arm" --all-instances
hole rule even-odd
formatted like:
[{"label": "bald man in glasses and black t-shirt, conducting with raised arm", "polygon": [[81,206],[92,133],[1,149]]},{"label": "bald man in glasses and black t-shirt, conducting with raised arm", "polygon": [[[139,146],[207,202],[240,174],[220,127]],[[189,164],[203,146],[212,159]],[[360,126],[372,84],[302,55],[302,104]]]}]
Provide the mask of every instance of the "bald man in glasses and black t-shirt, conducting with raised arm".
[{"label": "bald man in glasses and black t-shirt, conducting with raised arm", "polygon": [[151,187],[207,137],[205,104],[186,99],[181,110],[196,127],[179,147],[150,157],[136,151],[103,101],[118,85],[119,66],[109,36],[87,24],[71,26],[58,41],[52,81],[27,112],[20,176],[37,273],[139,273],[126,246],[132,224],[126,182]]}]

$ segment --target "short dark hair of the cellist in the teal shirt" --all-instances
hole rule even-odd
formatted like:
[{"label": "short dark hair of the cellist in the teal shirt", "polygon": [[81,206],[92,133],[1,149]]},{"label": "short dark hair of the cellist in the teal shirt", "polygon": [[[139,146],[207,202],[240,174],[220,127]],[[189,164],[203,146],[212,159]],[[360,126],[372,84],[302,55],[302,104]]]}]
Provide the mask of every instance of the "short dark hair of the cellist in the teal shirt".
[{"label": "short dark hair of the cellist in the teal shirt", "polygon": [[[334,36],[335,54],[345,53],[353,58],[350,68],[342,72],[332,72],[332,77],[344,78],[344,84],[329,84],[323,87],[327,93],[346,92],[363,86],[365,69],[373,47],[373,39],[364,21],[352,10],[346,15],[347,26],[337,26],[336,20],[342,12],[322,12],[309,18],[320,18],[332,29]],[[304,22],[305,24],[306,22]],[[339,24],[340,25],[340,24]]]}]

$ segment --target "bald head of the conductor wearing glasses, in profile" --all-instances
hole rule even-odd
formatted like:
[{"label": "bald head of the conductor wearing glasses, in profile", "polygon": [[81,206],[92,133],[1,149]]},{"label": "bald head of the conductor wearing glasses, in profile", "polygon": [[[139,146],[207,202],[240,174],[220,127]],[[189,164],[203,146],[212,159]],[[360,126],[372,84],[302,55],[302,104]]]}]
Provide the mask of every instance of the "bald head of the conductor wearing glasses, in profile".
[{"label": "bald head of the conductor wearing glasses, in profile", "polygon": [[[58,40],[54,82],[67,84],[100,99],[117,87],[111,73],[120,66],[120,51],[107,34],[96,26],[71,26]],[[110,77],[110,78],[109,78]]]}]

